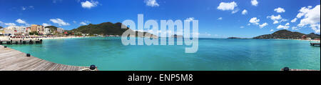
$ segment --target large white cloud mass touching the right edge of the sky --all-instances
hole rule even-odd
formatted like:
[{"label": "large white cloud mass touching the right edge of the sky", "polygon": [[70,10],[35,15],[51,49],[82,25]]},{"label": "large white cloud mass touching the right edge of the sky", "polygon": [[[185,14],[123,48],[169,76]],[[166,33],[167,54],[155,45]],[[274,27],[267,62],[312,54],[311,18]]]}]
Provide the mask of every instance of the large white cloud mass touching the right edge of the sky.
[{"label": "large white cloud mass touching the right edge of the sky", "polygon": [[302,7],[300,13],[297,14],[297,18],[301,18],[300,24],[297,24],[298,27],[309,26],[315,31],[315,33],[320,34],[320,5],[315,6],[312,9],[312,6]]}]

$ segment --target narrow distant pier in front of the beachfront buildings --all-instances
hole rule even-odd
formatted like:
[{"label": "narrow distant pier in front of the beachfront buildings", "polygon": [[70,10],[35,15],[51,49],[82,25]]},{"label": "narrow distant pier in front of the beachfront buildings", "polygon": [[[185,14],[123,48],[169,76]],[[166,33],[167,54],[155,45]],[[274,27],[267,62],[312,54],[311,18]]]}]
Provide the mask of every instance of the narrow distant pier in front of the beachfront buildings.
[{"label": "narrow distant pier in front of the beachfront buildings", "polygon": [[1,39],[0,44],[42,44],[42,39]]}]

